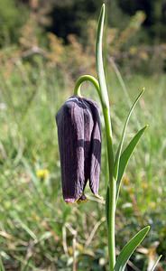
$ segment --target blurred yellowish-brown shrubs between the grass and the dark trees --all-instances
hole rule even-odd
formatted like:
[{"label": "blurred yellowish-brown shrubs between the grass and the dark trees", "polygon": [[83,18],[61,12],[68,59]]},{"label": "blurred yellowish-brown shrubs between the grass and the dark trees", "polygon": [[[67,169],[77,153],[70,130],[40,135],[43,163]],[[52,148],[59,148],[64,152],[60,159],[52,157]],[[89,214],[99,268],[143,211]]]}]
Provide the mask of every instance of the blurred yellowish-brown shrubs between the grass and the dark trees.
[{"label": "blurred yellowish-brown shrubs between the grass and the dark trees", "polygon": [[[0,63],[5,74],[10,73],[15,61],[23,60],[34,64],[36,55],[44,59],[46,67],[58,67],[66,72],[70,79],[76,79],[82,73],[95,75],[95,46],[97,22],[88,20],[87,38],[82,44],[75,34],[68,35],[68,44],[54,33],[44,33],[38,21],[41,14],[34,11],[20,28],[17,43],[4,47],[0,51]],[[107,61],[113,59],[125,73],[145,72],[146,74],[163,72],[166,59],[166,44],[153,46],[139,44],[138,33],[145,20],[143,12],[131,17],[124,30],[108,28],[106,30]]]}]

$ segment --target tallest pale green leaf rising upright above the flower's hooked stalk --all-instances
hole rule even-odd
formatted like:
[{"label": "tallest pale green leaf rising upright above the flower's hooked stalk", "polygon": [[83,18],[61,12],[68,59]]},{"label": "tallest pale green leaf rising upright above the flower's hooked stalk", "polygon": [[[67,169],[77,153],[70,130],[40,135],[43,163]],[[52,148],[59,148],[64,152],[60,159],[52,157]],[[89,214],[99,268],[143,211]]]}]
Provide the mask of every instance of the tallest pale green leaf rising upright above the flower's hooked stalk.
[{"label": "tallest pale green leaf rising upright above the flower's hooked stalk", "polygon": [[106,78],[103,66],[103,54],[102,54],[102,39],[103,39],[103,28],[105,22],[105,4],[102,5],[100,16],[98,19],[97,27],[97,41],[96,41],[96,63],[97,63],[97,76],[101,89],[101,99],[105,107],[109,107],[109,100],[106,88]]}]

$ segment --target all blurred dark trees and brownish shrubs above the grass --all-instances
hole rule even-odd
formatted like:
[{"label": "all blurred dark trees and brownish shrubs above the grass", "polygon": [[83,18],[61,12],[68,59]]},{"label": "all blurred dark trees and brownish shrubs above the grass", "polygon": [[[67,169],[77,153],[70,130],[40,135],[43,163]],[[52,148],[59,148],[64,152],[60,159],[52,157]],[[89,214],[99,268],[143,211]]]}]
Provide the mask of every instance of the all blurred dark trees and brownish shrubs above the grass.
[{"label": "all blurred dark trees and brownish shrubs above the grass", "polygon": [[[11,69],[15,57],[32,62],[33,56],[40,54],[46,65],[58,65],[74,78],[84,70],[95,72],[95,18],[102,0],[0,2],[3,65]],[[166,70],[164,3],[107,1],[108,61],[112,57],[126,73]]]}]

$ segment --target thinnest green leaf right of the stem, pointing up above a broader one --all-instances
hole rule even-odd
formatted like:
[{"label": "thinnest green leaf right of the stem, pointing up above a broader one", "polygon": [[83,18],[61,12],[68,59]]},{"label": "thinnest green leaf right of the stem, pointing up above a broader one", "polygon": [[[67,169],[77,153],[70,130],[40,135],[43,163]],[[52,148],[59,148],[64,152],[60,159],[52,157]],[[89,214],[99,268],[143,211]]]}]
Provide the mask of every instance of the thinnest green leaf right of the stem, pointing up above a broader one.
[{"label": "thinnest green leaf right of the stem, pointing up above a broader one", "polygon": [[126,131],[126,127],[128,125],[128,122],[129,122],[129,119],[132,115],[132,112],[134,111],[134,107],[136,106],[138,100],[141,98],[141,96],[143,95],[143,91],[144,89],[141,91],[141,93],[138,95],[138,97],[135,99],[134,101],[134,104],[133,106],[131,107],[130,111],[129,111],[129,114],[125,120],[125,123],[124,123],[124,129],[123,129],[123,133],[122,133],[122,137],[121,137],[121,141],[120,141],[120,144],[119,144],[119,147],[117,149],[117,153],[115,155],[115,171],[114,171],[114,177],[115,177],[115,180],[117,180],[117,175],[118,175],[118,170],[119,170],[119,161],[120,161],[120,156],[121,156],[121,153],[122,153],[122,148],[123,148],[123,144],[124,144],[124,135],[125,135],[125,131]]}]

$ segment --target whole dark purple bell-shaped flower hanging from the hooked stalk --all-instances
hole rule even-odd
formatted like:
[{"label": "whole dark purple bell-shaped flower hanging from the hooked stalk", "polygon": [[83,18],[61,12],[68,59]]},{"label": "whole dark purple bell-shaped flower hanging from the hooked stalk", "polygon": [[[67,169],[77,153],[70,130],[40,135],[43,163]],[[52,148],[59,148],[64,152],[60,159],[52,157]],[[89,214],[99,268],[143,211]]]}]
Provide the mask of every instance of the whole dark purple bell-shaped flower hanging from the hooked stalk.
[{"label": "whole dark purple bell-shaped flower hanging from the hooked stalk", "polygon": [[97,103],[69,98],[56,116],[61,181],[66,202],[85,201],[85,186],[97,195],[101,160],[101,127]]}]

